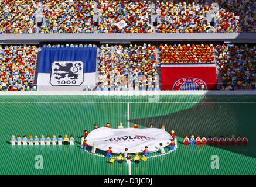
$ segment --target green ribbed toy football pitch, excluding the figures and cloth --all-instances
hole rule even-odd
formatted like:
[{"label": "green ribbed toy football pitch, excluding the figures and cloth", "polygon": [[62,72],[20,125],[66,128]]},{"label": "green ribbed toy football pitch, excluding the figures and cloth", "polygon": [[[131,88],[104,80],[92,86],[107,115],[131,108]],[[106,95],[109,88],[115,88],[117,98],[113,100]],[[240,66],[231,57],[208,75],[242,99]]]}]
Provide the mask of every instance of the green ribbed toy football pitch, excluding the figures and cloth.
[{"label": "green ribbed toy football pitch, excluding the figures and cloth", "polygon": [[[256,95],[1,96],[0,114],[1,175],[256,175]],[[165,124],[178,135],[178,149],[152,153],[158,157],[131,168],[108,164],[83,151],[79,138],[94,123],[107,122],[112,128],[120,122],[140,128]],[[11,146],[12,134],[74,134],[76,144]],[[247,135],[249,144],[185,147],[186,134]],[[43,169],[36,169],[36,155],[42,155]],[[211,169],[213,155],[219,169]]]}]

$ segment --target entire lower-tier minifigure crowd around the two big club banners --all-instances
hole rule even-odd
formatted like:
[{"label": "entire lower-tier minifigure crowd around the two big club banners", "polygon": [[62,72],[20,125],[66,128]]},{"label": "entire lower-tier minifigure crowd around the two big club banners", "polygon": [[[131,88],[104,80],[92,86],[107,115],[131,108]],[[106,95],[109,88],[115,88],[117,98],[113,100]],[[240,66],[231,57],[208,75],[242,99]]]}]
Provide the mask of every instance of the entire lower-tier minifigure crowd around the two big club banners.
[{"label": "entire lower-tier minifigure crowd around the two big club banners", "polygon": [[[43,47],[97,47],[95,44],[53,44]],[[0,46],[0,91],[36,91],[39,47]],[[215,51],[215,54],[214,54]],[[221,90],[255,89],[256,47],[247,44],[160,44],[161,64],[216,63]],[[159,91],[156,46],[136,44],[100,47],[97,91]]]}]

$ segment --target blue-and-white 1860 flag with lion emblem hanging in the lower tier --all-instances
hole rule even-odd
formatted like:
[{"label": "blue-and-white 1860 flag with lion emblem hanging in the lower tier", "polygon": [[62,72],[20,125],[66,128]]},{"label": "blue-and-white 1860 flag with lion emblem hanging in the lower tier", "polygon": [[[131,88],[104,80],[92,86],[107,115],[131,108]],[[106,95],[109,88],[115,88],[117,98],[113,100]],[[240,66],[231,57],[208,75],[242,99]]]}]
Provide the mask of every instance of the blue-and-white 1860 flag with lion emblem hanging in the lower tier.
[{"label": "blue-and-white 1860 flag with lion emblem hanging in the lower tier", "polygon": [[42,48],[38,91],[83,91],[96,84],[97,47]]}]

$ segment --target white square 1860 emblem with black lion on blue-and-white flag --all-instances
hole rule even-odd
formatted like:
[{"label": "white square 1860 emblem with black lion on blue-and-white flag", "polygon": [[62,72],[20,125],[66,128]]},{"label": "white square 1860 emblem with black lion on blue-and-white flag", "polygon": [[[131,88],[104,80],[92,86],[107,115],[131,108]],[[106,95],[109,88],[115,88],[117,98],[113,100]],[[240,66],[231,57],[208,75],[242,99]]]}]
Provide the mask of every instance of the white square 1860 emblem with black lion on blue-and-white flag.
[{"label": "white square 1860 emblem with black lion on blue-and-white flag", "polygon": [[78,86],[84,82],[82,61],[54,61],[50,84],[52,86]]}]

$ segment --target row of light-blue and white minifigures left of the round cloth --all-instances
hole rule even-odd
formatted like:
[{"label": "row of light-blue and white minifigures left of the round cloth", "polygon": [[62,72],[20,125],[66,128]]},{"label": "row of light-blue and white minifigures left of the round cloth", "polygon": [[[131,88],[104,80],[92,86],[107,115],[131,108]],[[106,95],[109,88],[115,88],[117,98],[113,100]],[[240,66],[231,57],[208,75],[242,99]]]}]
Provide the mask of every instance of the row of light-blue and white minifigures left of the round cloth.
[{"label": "row of light-blue and white minifigures left of the round cloth", "polygon": [[53,135],[53,138],[50,138],[49,135],[45,136],[42,135],[41,138],[39,139],[37,136],[35,136],[33,138],[32,135],[29,136],[29,138],[27,138],[26,135],[23,136],[23,138],[21,138],[21,135],[18,135],[17,138],[15,138],[14,135],[12,135],[11,137],[11,145],[12,146],[15,146],[15,145],[18,145],[18,146],[26,146],[26,145],[29,145],[29,146],[44,146],[44,145],[47,145],[47,146],[50,146],[50,145],[53,145],[53,146],[61,146],[62,144],[64,145],[67,145],[67,144],[70,144],[71,146],[74,145],[74,136],[73,135],[70,135],[70,138],[65,135],[64,138],[62,138],[61,135],[58,136],[58,138]]}]

